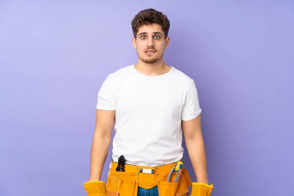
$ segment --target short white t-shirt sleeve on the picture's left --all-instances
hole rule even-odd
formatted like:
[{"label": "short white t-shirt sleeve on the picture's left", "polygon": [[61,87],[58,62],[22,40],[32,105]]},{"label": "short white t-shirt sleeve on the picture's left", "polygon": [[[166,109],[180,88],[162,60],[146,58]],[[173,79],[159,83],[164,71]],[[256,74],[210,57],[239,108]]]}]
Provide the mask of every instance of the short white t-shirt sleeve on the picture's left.
[{"label": "short white t-shirt sleeve on the picture's left", "polygon": [[115,110],[114,80],[109,74],[98,92],[96,108],[100,110]]}]

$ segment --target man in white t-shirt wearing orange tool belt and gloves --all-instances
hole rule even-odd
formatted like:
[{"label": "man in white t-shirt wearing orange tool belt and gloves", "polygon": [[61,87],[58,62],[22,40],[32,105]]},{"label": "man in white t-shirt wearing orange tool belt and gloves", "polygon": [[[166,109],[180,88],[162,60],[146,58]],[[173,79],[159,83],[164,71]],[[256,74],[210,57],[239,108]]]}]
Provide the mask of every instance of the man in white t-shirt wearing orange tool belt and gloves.
[{"label": "man in white t-shirt wearing orange tool belt and gloves", "polygon": [[[109,74],[98,92],[85,190],[88,196],[188,196],[192,185],[192,195],[209,196],[213,185],[207,177],[195,82],[163,60],[170,22],[146,9],[131,25],[138,63]],[[105,185],[100,178],[113,128],[113,161]],[[181,162],[181,128],[197,182],[191,182]]]}]

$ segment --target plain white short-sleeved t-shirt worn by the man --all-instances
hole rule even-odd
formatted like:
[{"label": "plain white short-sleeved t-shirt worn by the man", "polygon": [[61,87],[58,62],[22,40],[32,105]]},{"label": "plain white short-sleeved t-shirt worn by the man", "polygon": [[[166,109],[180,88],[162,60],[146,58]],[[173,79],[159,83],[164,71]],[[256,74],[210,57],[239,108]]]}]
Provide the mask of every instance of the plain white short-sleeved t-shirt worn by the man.
[{"label": "plain white short-sleeved t-shirt worn by the man", "polygon": [[158,166],[179,161],[181,122],[200,113],[193,79],[172,67],[148,76],[134,65],[110,73],[98,92],[97,109],[116,110],[112,159],[126,164]]}]

